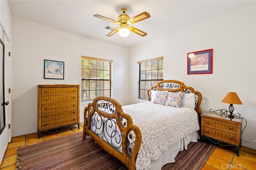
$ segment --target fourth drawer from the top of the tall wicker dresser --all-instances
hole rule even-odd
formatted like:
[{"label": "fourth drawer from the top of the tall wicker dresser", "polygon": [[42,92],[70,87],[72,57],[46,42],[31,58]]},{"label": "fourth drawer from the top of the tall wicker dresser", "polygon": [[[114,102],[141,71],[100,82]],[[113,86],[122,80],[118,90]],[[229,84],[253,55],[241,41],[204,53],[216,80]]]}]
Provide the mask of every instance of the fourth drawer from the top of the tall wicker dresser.
[{"label": "fourth drawer from the top of the tall wicker dresser", "polygon": [[77,108],[42,112],[42,121],[78,115]]}]

